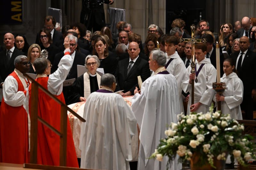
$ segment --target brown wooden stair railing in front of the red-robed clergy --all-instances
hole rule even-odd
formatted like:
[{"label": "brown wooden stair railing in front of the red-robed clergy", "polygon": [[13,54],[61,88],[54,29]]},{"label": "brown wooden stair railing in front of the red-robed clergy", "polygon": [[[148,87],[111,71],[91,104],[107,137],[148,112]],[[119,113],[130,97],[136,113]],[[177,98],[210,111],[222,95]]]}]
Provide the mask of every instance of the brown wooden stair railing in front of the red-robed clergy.
[{"label": "brown wooden stair railing in front of the red-robed clergy", "polygon": [[[25,168],[33,168],[32,164],[37,164],[37,120],[42,122],[46,127],[50,128],[53,132],[60,136],[60,166],[66,166],[67,160],[67,111],[72,113],[82,122],[85,120],[79,116],[76,112],[70,109],[66,104],[61,102],[57,97],[55,97],[52,93],[50,93],[47,89],[45,89],[42,85],[36,82],[33,78],[31,78],[28,74],[24,73],[32,83],[31,83],[31,96],[33,100],[31,100],[31,108],[30,108],[30,164],[24,164]],[[45,120],[38,116],[38,89],[41,89],[44,93],[46,93],[49,97],[55,100],[58,104],[60,104],[60,131],[52,127]],[[40,169],[40,165],[34,166],[37,169]],[[45,166],[42,166],[42,169]]]}]

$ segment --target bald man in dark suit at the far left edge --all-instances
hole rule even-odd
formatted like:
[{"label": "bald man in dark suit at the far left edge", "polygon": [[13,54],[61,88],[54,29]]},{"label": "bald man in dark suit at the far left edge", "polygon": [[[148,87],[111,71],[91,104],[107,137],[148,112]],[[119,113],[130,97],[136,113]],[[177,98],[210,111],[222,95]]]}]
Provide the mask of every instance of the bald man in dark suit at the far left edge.
[{"label": "bald man in dark suit at the far left edge", "polygon": [[4,35],[5,50],[0,52],[0,88],[3,88],[5,78],[14,70],[14,59],[24,53],[14,47],[15,39],[11,33]]}]

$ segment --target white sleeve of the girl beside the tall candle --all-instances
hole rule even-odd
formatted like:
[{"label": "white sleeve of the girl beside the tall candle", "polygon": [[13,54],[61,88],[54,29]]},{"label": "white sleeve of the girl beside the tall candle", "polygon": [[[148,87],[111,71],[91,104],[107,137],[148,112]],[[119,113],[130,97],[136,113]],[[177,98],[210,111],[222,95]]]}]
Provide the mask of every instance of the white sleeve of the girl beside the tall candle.
[{"label": "white sleeve of the girl beside the tall candle", "polygon": [[228,108],[231,110],[236,106],[239,106],[243,101],[244,86],[241,79],[237,78],[234,81],[233,96],[225,96],[224,101],[227,103]]}]

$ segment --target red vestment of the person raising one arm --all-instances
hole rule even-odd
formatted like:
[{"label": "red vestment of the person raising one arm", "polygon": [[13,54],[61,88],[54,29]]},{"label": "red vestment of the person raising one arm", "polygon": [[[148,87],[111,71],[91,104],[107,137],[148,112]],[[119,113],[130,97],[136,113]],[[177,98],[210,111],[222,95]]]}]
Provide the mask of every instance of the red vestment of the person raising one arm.
[{"label": "red vestment of the person raising one arm", "polygon": [[[49,77],[39,77],[36,81],[47,89]],[[29,112],[31,99],[31,86],[29,92]],[[65,103],[63,93],[55,96]],[[60,131],[60,104],[38,89],[38,116],[48,122],[51,126]],[[78,167],[75,145],[72,137],[71,128],[67,115],[67,166]],[[42,165],[60,165],[60,136],[55,134],[51,129],[44,126],[38,121],[37,135],[37,164]]]}]

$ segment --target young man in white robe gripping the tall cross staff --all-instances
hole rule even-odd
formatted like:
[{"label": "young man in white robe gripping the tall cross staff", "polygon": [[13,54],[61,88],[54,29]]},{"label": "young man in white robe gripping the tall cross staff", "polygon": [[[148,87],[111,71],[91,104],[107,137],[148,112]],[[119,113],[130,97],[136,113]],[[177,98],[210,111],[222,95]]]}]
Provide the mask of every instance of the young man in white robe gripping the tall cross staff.
[{"label": "young man in white robe gripping the tall cross staff", "polygon": [[[188,66],[187,73],[181,83],[183,91],[185,93],[189,91],[190,93],[187,114],[190,112],[208,112],[215,94],[212,89],[212,82],[216,82],[217,72],[211,64],[210,59],[204,57],[206,55],[206,49],[207,47],[204,43],[197,43],[195,45],[196,73],[191,73],[191,66]],[[191,104],[192,80],[195,80],[194,104]]]}]

